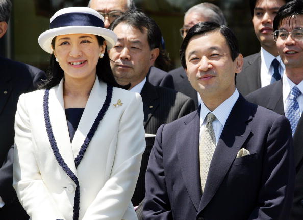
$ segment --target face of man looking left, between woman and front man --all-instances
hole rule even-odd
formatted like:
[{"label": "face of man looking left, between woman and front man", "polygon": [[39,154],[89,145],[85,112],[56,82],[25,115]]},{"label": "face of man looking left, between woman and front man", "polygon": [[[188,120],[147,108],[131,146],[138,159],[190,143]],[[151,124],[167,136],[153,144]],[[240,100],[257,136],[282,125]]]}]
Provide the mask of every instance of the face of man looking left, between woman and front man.
[{"label": "face of man looking left, between woman and front man", "polygon": [[159,48],[150,49],[147,30],[129,24],[119,23],[114,28],[118,37],[116,45],[109,51],[111,68],[120,85],[131,83],[131,88],[140,83],[147,75],[159,54]]}]

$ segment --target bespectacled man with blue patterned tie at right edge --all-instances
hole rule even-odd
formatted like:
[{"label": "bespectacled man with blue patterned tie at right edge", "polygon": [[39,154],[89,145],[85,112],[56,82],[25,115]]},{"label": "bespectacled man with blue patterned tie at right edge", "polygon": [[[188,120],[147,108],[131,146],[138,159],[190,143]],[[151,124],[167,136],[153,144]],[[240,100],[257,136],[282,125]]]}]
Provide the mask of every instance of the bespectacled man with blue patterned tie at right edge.
[{"label": "bespectacled man with blue patterned tie at right edge", "polygon": [[[277,49],[285,64],[283,79],[250,93],[247,100],[286,115],[291,122],[296,166],[291,220],[301,220],[303,219],[303,38],[301,37],[303,32],[294,29],[303,28],[303,2],[297,0],[282,6],[273,21],[273,27],[277,31],[274,32]],[[296,95],[292,94],[294,91],[297,91]],[[291,108],[292,106],[294,108]]]}]

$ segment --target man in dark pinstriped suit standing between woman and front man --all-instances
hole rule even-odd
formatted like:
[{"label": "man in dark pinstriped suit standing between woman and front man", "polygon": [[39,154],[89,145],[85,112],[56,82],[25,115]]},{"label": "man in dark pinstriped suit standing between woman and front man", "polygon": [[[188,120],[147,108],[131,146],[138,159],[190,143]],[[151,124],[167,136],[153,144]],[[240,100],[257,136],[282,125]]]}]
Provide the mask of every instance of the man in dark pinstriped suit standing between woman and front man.
[{"label": "man in dark pinstriped suit standing between woman and front man", "polygon": [[161,31],[154,20],[142,12],[126,13],[110,26],[118,41],[109,51],[111,68],[117,82],[130,83],[130,91],[141,94],[144,111],[146,149],[132,202],[137,206],[145,194],[145,171],[157,129],[194,110],[189,97],[172,89],[152,85],[146,80],[150,67],[159,54]]}]

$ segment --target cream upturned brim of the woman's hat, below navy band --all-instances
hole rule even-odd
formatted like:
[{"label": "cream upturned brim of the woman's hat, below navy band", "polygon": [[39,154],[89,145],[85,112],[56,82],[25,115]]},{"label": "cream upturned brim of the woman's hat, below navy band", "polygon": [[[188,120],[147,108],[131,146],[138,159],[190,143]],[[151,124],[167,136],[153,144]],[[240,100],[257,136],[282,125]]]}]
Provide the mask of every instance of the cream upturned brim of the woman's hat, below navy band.
[{"label": "cream upturned brim of the woman's hat, below navy band", "polygon": [[39,36],[38,43],[43,50],[51,54],[53,53],[51,45],[53,38],[59,35],[68,34],[92,34],[101,36],[106,40],[108,50],[117,42],[117,35],[112,30],[106,28],[93,26],[68,26],[46,30]]}]

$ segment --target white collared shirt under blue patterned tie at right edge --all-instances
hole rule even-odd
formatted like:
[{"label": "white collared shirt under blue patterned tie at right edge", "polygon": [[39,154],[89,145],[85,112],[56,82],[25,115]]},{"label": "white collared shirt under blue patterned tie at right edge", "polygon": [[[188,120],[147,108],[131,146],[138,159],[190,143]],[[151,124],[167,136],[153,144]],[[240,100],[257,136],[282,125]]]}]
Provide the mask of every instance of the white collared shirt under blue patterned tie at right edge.
[{"label": "white collared shirt under blue patterned tie at right edge", "polygon": [[[286,112],[287,108],[287,102],[289,100],[289,93],[291,89],[297,86],[297,88],[303,93],[303,81],[301,81],[299,84],[294,84],[287,76],[284,74],[284,77],[282,79],[282,94],[283,94],[283,106],[284,106],[284,112]],[[300,116],[302,115],[303,112],[303,95],[300,94],[297,97],[297,101],[299,104],[299,110],[300,110]]]}]

